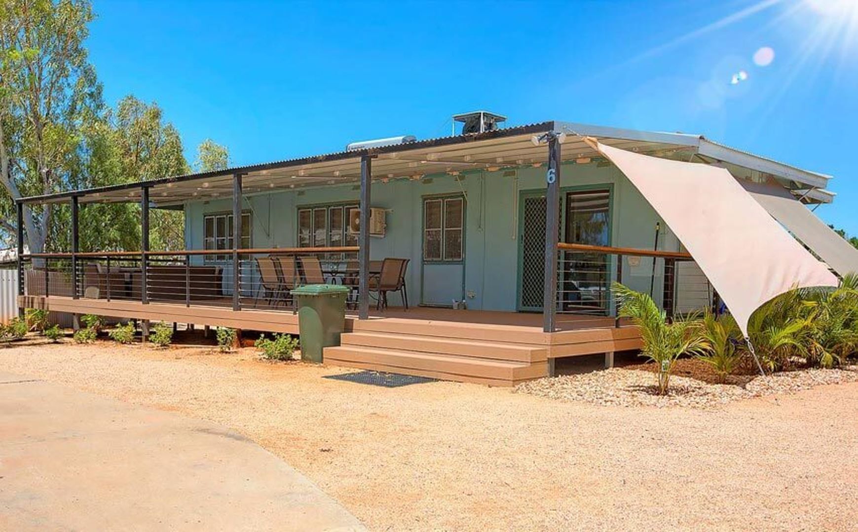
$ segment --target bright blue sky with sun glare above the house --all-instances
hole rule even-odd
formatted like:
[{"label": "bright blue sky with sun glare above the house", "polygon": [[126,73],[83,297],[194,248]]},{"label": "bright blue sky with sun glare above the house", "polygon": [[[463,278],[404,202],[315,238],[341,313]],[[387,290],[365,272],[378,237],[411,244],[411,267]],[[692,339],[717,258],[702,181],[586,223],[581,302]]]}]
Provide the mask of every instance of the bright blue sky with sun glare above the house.
[{"label": "bright blue sky with sun glare above the house", "polygon": [[106,99],[157,102],[191,161],[206,138],[252,164],[450,134],[450,115],[486,109],[509,125],[700,133],[834,175],[817,213],[858,235],[858,0],[94,9]]}]

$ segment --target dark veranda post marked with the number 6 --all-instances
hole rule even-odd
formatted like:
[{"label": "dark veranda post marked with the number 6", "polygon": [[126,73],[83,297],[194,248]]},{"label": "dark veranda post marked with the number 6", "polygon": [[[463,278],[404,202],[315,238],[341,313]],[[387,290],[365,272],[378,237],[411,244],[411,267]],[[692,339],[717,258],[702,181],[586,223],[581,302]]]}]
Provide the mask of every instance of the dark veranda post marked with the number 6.
[{"label": "dark veranda post marked with the number 6", "polygon": [[557,243],[560,234],[560,139],[554,131],[548,140],[545,205],[545,284],[542,299],[542,331],[554,332],[557,313]]}]

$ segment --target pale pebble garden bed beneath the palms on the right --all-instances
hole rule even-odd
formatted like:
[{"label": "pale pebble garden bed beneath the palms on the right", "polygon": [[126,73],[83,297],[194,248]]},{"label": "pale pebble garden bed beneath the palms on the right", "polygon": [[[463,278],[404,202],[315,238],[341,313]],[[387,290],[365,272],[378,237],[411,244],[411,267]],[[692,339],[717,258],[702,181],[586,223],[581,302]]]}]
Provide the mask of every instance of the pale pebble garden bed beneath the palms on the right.
[{"label": "pale pebble garden bed beneath the palms on the right", "polygon": [[795,393],[826,384],[858,382],[856,369],[784,372],[757,377],[744,387],[707,384],[674,375],[670,378],[668,394],[660,396],[656,394],[656,377],[652,372],[613,368],[589,374],[531,380],[517,386],[516,392],[601,405],[712,408],[738,399]]}]

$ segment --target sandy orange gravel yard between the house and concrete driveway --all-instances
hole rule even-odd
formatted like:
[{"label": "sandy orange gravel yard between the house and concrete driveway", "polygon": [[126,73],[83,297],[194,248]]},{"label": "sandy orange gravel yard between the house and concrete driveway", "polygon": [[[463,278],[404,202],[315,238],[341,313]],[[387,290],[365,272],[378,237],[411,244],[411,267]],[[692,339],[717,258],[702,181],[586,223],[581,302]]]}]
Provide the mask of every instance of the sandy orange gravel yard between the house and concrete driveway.
[{"label": "sandy orange gravel yard between the house and concrete driveway", "polygon": [[448,382],[377,388],[253,350],[19,344],[0,349],[0,368],[232,427],[372,529],[858,522],[855,383],[656,409]]}]

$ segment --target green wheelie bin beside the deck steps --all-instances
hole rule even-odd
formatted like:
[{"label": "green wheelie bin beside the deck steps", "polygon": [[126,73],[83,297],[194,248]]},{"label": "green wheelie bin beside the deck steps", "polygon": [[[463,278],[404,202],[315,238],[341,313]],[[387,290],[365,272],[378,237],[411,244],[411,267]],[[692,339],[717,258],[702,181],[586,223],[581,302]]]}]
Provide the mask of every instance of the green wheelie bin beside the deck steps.
[{"label": "green wheelie bin beside the deck steps", "polygon": [[298,304],[301,360],[322,362],[322,350],[340,344],[346,325],[348,287],[338,284],[307,284],[292,290]]}]

